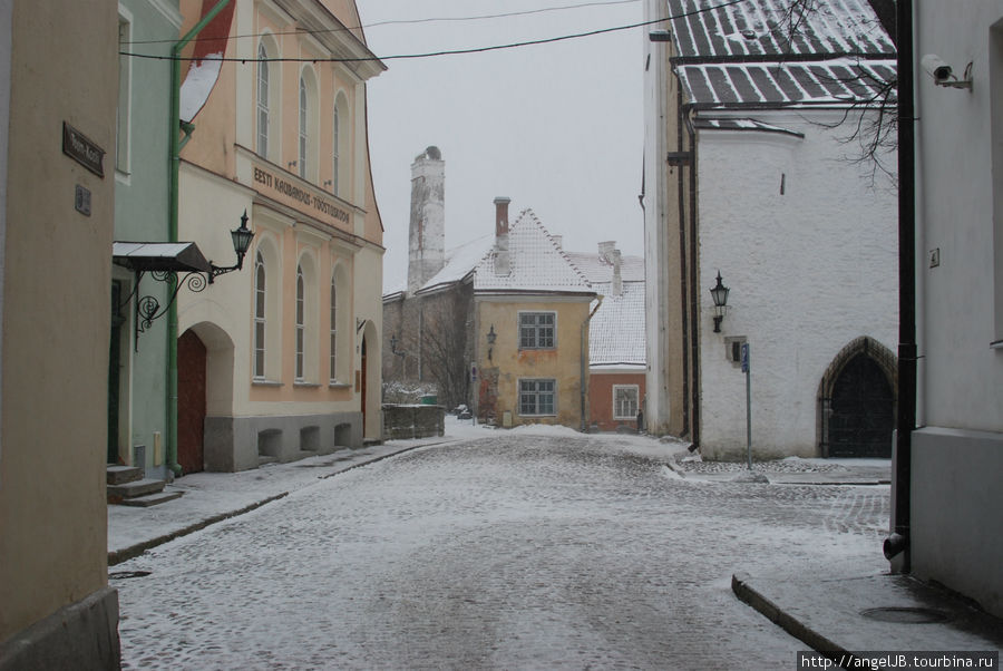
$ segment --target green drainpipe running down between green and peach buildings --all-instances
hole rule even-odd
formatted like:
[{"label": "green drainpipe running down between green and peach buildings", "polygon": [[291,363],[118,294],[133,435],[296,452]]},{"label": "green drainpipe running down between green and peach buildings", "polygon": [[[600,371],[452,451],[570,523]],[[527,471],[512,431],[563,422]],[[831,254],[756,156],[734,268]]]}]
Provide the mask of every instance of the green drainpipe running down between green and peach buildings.
[{"label": "green drainpipe running down between green and peach buildings", "polygon": [[[178,181],[181,174],[181,150],[187,144],[195,127],[192,124],[182,124],[181,120],[181,51],[195,36],[218,14],[231,0],[220,0],[215,7],[201,21],[177,42],[171,47],[171,121],[167,142],[168,161],[171,163],[171,181],[167,185],[167,242],[177,242],[177,208],[178,208]],[[184,130],[185,137],[178,137],[178,130]],[[174,291],[175,278],[169,284],[169,291]],[[174,475],[182,475],[181,464],[177,463],[177,303],[172,302],[167,309],[167,468]]]}]

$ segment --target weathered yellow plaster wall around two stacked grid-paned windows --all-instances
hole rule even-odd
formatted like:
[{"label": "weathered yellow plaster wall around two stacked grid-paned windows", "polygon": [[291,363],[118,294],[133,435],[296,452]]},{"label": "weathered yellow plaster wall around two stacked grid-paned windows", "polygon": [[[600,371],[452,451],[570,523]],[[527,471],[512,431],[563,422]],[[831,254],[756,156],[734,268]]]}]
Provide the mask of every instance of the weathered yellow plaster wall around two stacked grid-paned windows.
[{"label": "weathered yellow plaster wall around two stacked grid-paned windows", "polygon": [[[518,313],[556,312],[557,347],[553,350],[519,350]],[[498,369],[497,421],[510,411],[513,426],[522,424],[557,424],[580,428],[582,422],[582,324],[588,317],[588,299],[575,301],[501,302],[477,301],[479,368]],[[491,325],[497,339],[487,359],[487,333]],[[588,356],[587,330],[584,354]],[[587,361],[586,361],[587,373]],[[520,378],[554,378],[557,381],[556,417],[526,417],[518,414]],[[588,378],[585,377],[586,395]],[[587,400],[587,396],[586,396]]]}]

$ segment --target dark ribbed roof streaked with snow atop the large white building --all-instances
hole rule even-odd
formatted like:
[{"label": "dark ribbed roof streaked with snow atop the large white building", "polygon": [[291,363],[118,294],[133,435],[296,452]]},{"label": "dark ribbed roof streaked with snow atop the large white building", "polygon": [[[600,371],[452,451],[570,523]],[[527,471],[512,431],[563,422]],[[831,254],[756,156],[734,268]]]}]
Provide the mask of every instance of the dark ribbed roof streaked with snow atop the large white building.
[{"label": "dark ribbed roof streaked with snow atop the large white building", "polygon": [[669,0],[673,62],[690,103],[850,105],[875,98],[895,79],[895,46],[867,0],[807,3],[793,14],[791,7],[790,0],[723,7]]}]

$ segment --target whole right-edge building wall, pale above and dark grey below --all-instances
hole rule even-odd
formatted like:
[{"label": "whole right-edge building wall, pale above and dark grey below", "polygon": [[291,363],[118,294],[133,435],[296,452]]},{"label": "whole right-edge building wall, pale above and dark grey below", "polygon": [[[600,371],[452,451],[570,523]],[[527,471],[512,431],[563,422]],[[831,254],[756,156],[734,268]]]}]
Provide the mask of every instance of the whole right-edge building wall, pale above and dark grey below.
[{"label": "whole right-edge building wall, pale above and dark grey below", "polygon": [[[1003,0],[915,3],[918,416],[913,573],[1003,616]],[[936,54],[971,91],[934,86]],[[941,264],[929,268],[928,252]]]}]

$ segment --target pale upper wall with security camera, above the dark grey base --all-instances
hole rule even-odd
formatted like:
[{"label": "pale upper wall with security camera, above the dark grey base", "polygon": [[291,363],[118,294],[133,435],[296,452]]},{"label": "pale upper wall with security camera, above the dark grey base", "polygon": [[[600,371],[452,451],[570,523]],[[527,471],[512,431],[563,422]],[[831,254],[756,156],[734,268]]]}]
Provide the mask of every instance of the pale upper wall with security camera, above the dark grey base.
[{"label": "pale upper wall with security camera, above the dark grey base", "polygon": [[[993,211],[992,153],[1003,152],[1003,127],[993,128],[990,104],[990,27],[1003,19],[1003,2],[965,7],[962,16],[950,3],[922,2],[915,21],[917,61],[935,52],[958,76],[973,62],[975,79],[971,93],[942,88],[917,67],[921,416],[932,426],[1003,431],[1003,350],[990,347],[1003,338],[994,314],[1003,310],[1003,288],[996,281],[991,290],[1001,263],[994,236],[1003,236],[1003,213]],[[1003,72],[995,77],[1003,96]],[[1003,175],[995,178],[1003,188]],[[926,259],[934,249],[938,268]]]}]

